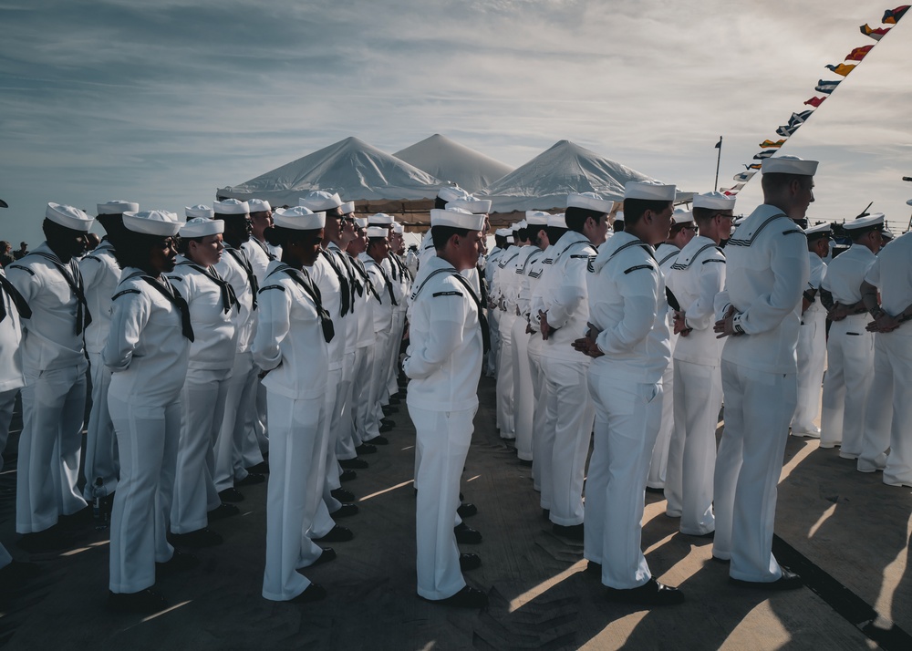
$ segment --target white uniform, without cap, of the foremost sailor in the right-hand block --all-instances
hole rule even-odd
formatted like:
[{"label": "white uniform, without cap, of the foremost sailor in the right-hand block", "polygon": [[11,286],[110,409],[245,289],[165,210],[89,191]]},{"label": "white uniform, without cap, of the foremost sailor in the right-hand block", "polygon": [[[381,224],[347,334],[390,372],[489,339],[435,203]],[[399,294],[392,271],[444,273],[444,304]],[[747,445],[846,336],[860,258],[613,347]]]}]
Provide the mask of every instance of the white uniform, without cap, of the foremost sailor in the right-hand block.
[{"label": "white uniform, without cap, of the foremost sailor in the right-hand block", "polygon": [[589,366],[596,420],[584,555],[601,563],[602,584],[627,590],[652,576],[640,522],[671,355],[665,279],[652,247],[624,232],[600,247],[590,269],[589,322],[601,331],[596,345],[605,355]]}]

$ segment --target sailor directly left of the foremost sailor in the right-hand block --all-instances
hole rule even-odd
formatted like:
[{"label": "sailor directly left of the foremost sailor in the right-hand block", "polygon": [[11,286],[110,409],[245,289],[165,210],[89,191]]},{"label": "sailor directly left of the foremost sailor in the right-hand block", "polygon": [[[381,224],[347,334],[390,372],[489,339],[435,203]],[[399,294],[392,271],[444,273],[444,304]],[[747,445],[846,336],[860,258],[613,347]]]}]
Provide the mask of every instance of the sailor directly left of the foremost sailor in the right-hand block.
[{"label": "sailor directly left of the foremost sailor in the right-hand block", "polygon": [[586,270],[606,240],[613,206],[594,192],[567,196],[568,230],[554,244],[548,270],[556,282],[538,313],[548,420],[554,421],[550,519],[554,533],[576,541],[583,540],[583,479],[596,407],[586,387],[590,357],[575,350],[573,342],[586,334]]}]

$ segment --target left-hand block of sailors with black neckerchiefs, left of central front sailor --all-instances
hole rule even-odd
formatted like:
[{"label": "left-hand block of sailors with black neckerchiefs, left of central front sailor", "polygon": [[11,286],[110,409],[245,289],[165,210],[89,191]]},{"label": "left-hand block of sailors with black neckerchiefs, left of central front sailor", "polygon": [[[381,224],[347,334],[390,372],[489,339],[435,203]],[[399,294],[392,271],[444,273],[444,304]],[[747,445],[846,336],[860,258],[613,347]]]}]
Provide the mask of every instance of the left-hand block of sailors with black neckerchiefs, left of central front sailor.
[{"label": "left-hand block of sailors with black neckerchiefs, left of central front sailor", "polygon": [[[387,442],[380,431],[393,426],[383,407],[399,391],[404,306],[396,305],[409,294],[410,275],[389,255],[391,240],[401,246],[401,226],[389,215],[356,226],[354,205],[336,194],[312,192],[302,204],[277,210],[275,224],[271,206],[259,200],[188,208],[186,223],[170,212],[139,212],[132,202],[99,204],[108,234],[79,260],[94,220],[50,203],[47,241],[2,279],[0,450],[20,387],[24,412],[18,544],[31,552],[66,546],[63,525],[87,512],[93,491],[113,496],[113,609],[164,604],[150,590],[156,570],[198,563],[174,546],[222,542],[208,523],[239,512],[228,503],[244,499],[235,486],[264,480],[247,469],[269,471],[267,453],[274,460],[268,518],[281,523],[275,511],[296,499],[288,482],[300,480],[283,472],[289,457],[305,453],[295,439],[299,429],[312,443],[305,464],[310,501],[300,511],[309,521],[296,533],[295,526],[270,530],[264,596],[321,596],[321,589],[306,590],[295,567],[335,557],[312,541],[353,535],[334,520],[357,512],[342,502],[353,496],[339,481],[354,477],[350,466],[368,466],[358,453],[375,452]],[[309,327],[304,315],[300,323],[289,320],[293,309],[319,316],[311,324],[319,337],[301,332]],[[300,346],[298,335],[320,343]],[[89,368],[93,406],[80,493]],[[300,400],[319,408],[302,415]],[[289,535],[296,536],[294,553],[282,544]],[[285,552],[294,556],[290,567]]]}]

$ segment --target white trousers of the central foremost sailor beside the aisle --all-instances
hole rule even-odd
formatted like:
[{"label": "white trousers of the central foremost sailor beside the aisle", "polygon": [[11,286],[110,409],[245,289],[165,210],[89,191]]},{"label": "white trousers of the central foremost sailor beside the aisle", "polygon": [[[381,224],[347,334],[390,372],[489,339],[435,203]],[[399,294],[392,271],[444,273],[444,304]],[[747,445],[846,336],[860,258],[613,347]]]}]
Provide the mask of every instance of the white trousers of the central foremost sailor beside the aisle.
[{"label": "white trousers of the central foremost sailor beside the aisle", "polygon": [[446,599],[465,587],[453,522],[475,409],[430,411],[409,405],[420,459],[415,487],[418,594]]}]

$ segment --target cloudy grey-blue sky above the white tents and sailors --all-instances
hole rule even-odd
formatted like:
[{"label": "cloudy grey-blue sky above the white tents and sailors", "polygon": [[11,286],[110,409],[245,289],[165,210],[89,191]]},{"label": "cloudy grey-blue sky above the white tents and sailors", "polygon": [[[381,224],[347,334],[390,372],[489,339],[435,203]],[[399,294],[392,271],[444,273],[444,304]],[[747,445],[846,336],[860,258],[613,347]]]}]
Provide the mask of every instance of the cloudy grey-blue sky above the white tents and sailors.
[{"label": "cloudy grey-blue sky above the white tents and sailors", "polygon": [[[352,135],[513,166],[567,139],[689,191],[721,135],[727,187],[896,1],[0,0],[0,238],[48,201],[182,215]],[[910,61],[907,17],[783,148],[821,160],[812,221],[908,221]]]}]

